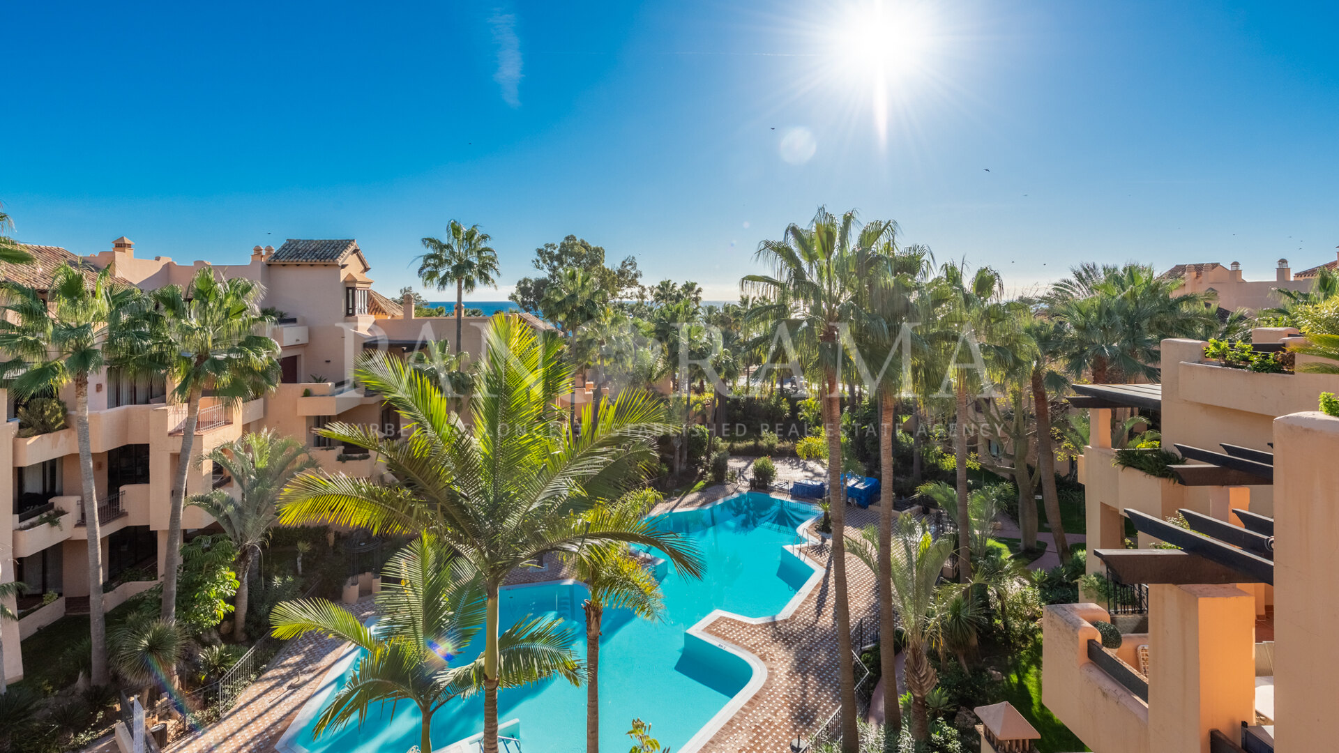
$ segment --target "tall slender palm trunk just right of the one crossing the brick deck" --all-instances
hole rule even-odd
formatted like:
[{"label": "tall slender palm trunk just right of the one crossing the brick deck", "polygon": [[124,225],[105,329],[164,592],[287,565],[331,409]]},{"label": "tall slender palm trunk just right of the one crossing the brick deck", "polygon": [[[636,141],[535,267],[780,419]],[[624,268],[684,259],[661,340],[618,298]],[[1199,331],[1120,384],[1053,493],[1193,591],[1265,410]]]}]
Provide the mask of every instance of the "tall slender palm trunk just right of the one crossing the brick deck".
[{"label": "tall slender palm trunk just right of the one crossing the brick deck", "polygon": [[878,669],[884,678],[884,734],[885,753],[896,753],[897,734],[902,729],[902,709],[897,702],[897,642],[893,626],[893,395],[882,390],[880,395],[882,421],[878,425],[878,465],[884,477],[878,497]]}]

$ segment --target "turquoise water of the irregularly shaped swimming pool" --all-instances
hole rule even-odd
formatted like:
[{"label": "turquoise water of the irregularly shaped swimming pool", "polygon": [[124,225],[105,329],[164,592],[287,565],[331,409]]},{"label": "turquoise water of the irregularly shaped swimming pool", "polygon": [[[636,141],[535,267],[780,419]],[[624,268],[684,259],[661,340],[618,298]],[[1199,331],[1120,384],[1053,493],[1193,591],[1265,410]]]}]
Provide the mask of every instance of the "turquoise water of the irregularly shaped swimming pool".
[{"label": "turquoise water of the irregularly shaped swimming pool", "polygon": [[[600,745],[625,750],[629,722],[651,722],[652,734],[676,753],[720,711],[753,677],[743,658],[687,630],[712,610],[746,618],[781,612],[814,576],[814,569],[783,547],[797,541],[795,529],[814,515],[810,505],[747,493],[710,508],[661,516],[661,524],[690,535],[700,547],[707,568],[702,580],[688,580],[663,565],[665,614],[649,623],[623,610],[608,610],[600,640]],[[556,615],[570,620],[574,647],[585,657],[581,602],[585,588],[546,583],[507,588],[502,623],[525,615]],[[462,655],[482,648],[470,646]],[[343,682],[341,675],[336,682]],[[291,750],[311,753],[403,753],[419,742],[419,714],[412,705],[386,706],[358,729],[356,725],[312,738],[312,720],[331,689],[321,689],[287,737]],[[585,687],[550,681],[503,690],[498,720],[520,720],[525,753],[581,753],[585,750]],[[308,713],[309,711],[309,713]],[[432,742],[439,749],[483,730],[482,698],[449,703],[432,717]],[[474,749],[477,746],[471,746]]]}]

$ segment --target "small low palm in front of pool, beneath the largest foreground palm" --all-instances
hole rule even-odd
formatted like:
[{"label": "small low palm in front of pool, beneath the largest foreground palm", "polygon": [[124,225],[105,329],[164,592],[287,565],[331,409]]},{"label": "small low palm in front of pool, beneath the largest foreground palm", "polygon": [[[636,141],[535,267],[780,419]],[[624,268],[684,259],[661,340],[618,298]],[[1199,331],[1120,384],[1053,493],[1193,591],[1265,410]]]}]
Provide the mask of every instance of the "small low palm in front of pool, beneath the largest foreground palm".
[{"label": "small low palm in front of pool, beneath the largest foreground palm", "polygon": [[486,673],[483,654],[459,662],[461,651],[497,612],[485,602],[478,572],[449,547],[427,536],[415,539],[386,563],[383,583],[376,596],[382,615],[376,631],[325,599],[281,602],[272,611],[276,638],[320,632],[367,653],[316,717],[313,734],[339,729],[355,717],[362,726],[374,706],[410,701],[422,718],[419,750],[430,752],[432,714],[453,698],[485,687],[487,677],[501,687],[554,675],[580,683],[572,634],[561,620],[526,618],[502,632],[494,675]]}]

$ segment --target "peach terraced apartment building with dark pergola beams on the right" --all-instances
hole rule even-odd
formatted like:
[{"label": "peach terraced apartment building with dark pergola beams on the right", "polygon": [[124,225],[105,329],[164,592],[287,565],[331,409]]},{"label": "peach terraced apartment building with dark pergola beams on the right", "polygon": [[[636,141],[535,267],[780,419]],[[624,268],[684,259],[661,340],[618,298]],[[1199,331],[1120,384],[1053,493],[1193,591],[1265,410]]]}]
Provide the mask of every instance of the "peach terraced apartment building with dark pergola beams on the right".
[{"label": "peach terraced apartment building with dark pergola beams on the right", "polygon": [[[1265,352],[1299,342],[1279,328],[1252,339]],[[1097,753],[1327,750],[1339,418],[1316,405],[1339,375],[1232,368],[1204,346],[1164,340],[1161,385],[1078,386],[1070,399],[1091,419],[1087,568],[1117,586],[1046,608],[1043,702]],[[1157,411],[1162,446],[1185,458],[1172,477],[1115,465],[1113,411],[1129,409]],[[1177,515],[1189,529],[1166,521]],[[1095,622],[1117,626],[1118,648]]]}]

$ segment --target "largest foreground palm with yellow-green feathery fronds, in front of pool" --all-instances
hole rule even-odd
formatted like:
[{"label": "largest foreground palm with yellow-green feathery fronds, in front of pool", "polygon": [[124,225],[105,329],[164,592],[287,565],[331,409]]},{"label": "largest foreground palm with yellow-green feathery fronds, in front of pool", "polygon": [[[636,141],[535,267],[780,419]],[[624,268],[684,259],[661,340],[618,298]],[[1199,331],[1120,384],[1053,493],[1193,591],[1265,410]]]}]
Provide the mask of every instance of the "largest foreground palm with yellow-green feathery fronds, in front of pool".
[{"label": "largest foreground palm with yellow-green feathery fronds, in front of pool", "polygon": [[378,453],[400,481],[299,476],[280,498],[280,521],[427,532],[478,571],[487,602],[483,749],[497,753],[498,588],[511,572],[545,553],[604,541],[655,547],[694,577],[702,564],[683,535],[593,510],[627,492],[651,460],[652,439],[665,431],[653,397],[624,390],[599,421],[586,406],[573,431],[557,406],[572,383],[561,343],[518,316],[494,318],[485,343],[469,425],[418,370],[387,354],[364,355],[359,379],[408,421],[406,435],[345,423],[321,434]]}]

